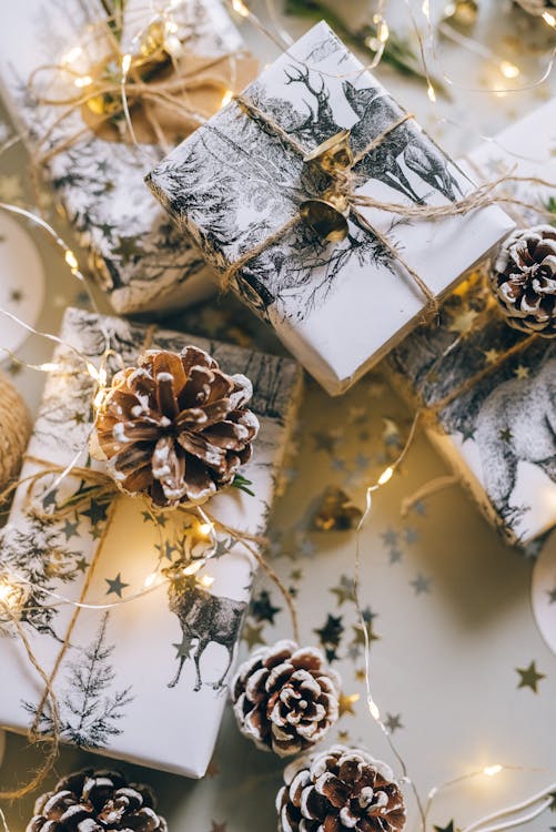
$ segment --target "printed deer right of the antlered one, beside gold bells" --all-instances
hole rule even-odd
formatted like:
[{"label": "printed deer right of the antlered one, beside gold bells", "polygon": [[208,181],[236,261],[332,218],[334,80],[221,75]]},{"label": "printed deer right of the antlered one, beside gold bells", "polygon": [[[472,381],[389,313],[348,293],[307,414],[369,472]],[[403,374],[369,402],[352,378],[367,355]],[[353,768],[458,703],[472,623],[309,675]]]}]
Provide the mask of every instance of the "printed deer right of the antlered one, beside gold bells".
[{"label": "printed deer right of the antlered one, beside gold bells", "polygon": [[[391,98],[377,87],[358,90],[350,81],[344,81],[342,88],[350,106],[360,116],[360,121],[352,128],[352,142],[355,152],[362,151],[396,121],[398,112]],[[367,179],[377,179],[401,191],[413,202],[423,204],[424,200],[415,193],[402,170],[400,159],[451,202],[455,202],[456,191],[462,193],[448,170],[446,158],[425,134],[417,141],[415,131],[408,124],[402,124],[387,141],[372,151],[361,163],[361,170]]]}]

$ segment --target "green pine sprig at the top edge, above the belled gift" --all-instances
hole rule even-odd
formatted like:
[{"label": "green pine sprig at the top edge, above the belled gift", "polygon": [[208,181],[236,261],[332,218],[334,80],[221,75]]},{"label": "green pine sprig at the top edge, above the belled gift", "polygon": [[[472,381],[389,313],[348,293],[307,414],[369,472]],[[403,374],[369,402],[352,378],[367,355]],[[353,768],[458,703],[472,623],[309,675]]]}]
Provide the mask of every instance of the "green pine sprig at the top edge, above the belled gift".
[{"label": "green pine sprig at the top edge, above the belled gift", "polygon": [[[338,14],[336,14],[336,12],[332,11],[325,3],[321,2],[321,0],[285,0],[284,11],[286,14],[304,18],[305,20],[315,23],[320,20],[325,20],[326,23],[334,29],[336,34],[338,34],[346,43],[350,43],[363,52],[371,52],[371,54],[374,55],[370,43],[376,38],[376,27],[370,23],[360,29],[352,29]],[[442,81],[433,77],[427,79],[410,41],[397,37],[392,31],[386,41],[382,61],[407,78],[414,78],[424,83],[427,83],[428,80],[431,80],[436,92],[445,98],[449,98]]]}]

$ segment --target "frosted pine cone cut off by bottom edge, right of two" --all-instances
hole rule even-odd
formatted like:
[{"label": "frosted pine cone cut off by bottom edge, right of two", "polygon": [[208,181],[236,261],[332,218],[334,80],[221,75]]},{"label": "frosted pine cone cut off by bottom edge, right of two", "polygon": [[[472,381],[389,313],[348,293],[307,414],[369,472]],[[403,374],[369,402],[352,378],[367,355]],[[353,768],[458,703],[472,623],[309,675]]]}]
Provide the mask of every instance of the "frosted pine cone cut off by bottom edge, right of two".
[{"label": "frosted pine cone cut off by bottom edge, right of two", "polygon": [[276,798],[281,832],[401,832],[404,798],[392,771],[366,751],[334,745],[295,760]]}]

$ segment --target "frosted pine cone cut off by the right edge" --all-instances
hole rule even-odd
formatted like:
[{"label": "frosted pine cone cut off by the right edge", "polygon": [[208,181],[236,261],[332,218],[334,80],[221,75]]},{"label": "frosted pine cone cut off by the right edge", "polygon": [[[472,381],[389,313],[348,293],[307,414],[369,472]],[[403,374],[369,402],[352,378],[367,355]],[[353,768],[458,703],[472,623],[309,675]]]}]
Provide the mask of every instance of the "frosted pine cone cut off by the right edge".
[{"label": "frosted pine cone cut off by the right edge", "polygon": [[502,244],[491,285],[508,324],[550,338],[556,335],[556,229],[522,229]]}]

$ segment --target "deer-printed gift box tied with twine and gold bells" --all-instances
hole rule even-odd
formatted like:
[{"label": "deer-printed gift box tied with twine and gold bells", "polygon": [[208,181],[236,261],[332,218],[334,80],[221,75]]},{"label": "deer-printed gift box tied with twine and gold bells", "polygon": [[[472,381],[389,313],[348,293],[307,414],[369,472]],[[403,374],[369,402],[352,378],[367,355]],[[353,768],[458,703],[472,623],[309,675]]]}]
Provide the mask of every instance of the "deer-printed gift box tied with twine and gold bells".
[{"label": "deer-printed gift box tied with twine and gold bells", "polygon": [[405,215],[451,205],[473,184],[324,22],[148,184],[333,395],[512,226],[492,206],[434,222]]}]

